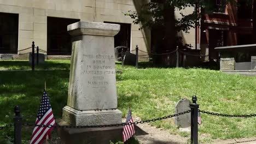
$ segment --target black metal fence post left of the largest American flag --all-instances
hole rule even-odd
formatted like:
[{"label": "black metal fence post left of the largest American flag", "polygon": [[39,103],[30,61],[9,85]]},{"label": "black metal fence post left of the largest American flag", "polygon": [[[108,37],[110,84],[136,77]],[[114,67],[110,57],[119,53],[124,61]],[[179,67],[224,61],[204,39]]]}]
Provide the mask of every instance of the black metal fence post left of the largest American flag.
[{"label": "black metal fence post left of the largest American flag", "polygon": [[20,106],[17,105],[14,108],[14,143],[21,144],[21,128],[22,128],[22,117],[20,116]]}]

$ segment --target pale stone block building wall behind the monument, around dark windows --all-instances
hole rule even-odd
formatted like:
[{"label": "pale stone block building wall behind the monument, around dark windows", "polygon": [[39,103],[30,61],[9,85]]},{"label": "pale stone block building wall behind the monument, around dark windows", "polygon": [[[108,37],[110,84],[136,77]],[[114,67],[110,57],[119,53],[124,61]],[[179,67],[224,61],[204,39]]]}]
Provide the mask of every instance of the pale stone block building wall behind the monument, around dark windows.
[{"label": "pale stone block building wall behind the monument, around dark windows", "polygon": [[[134,1],[134,2],[133,2]],[[135,0],[3,0],[0,12],[19,14],[18,50],[30,47],[32,41],[40,49],[47,50],[47,16],[80,19],[94,22],[132,23],[128,10],[139,10],[144,1]],[[145,1],[147,2],[147,1]],[[139,31],[139,25],[131,25],[131,50],[138,45],[150,50],[150,32]],[[22,51],[20,53],[26,53]]]}]

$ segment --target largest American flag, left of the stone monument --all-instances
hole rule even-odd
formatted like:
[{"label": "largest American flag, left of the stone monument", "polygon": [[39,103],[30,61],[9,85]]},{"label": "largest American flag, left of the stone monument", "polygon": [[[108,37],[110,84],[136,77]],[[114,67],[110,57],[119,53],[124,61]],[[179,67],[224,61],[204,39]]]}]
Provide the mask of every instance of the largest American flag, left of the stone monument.
[{"label": "largest American flag, left of the stone monument", "polygon": [[[43,97],[41,99],[40,108],[38,110],[36,125],[55,125],[53,110],[51,110],[51,105],[46,91],[44,90]],[[54,128],[47,127],[34,127],[33,134],[31,136],[30,143],[40,144],[46,138],[51,137],[51,130]]]}]

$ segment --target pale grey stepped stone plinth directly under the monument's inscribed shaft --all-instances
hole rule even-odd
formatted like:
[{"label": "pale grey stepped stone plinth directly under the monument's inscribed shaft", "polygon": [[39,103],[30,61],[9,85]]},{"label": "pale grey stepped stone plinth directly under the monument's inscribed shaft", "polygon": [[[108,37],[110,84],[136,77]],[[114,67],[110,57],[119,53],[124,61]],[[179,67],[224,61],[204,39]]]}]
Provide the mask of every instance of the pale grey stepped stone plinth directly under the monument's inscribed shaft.
[{"label": "pale grey stepped stone plinth directly under the monument's inscribed shaft", "polygon": [[120,124],[122,122],[122,112],[117,109],[78,111],[65,106],[62,109],[62,119],[76,126]]}]

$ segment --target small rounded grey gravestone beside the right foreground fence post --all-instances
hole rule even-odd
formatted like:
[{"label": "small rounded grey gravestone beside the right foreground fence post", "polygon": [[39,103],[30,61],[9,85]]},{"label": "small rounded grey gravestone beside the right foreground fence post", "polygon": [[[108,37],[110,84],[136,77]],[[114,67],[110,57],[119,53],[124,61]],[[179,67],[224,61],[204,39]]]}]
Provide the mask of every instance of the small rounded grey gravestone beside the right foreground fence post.
[{"label": "small rounded grey gravestone beside the right foreground fence post", "polygon": [[[184,111],[191,110],[189,107],[189,104],[191,104],[191,102],[188,99],[179,100],[175,106],[175,113],[181,113]],[[184,115],[175,117],[176,126],[180,128],[189,128],[191,125],[190,115],[191,115],[190,113],[185,113]]]}]

